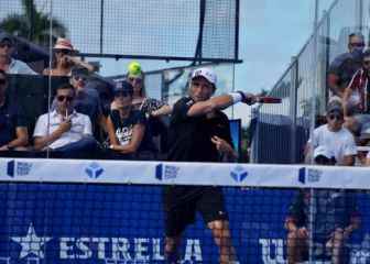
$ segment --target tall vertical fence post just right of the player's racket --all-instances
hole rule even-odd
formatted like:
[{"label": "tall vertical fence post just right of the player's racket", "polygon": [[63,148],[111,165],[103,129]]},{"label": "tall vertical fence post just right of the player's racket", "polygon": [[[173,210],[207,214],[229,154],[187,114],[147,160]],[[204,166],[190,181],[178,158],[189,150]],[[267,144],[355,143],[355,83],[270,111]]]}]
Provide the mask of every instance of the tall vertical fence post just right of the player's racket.
[{"label": "tall vertical fence post just right of the player's racket", "polygon": [[296,155],[296,114],[297,114],[297,89],[298,89],[298,59],[293,56],[290,87],[290,117],[291,117],[291,163],[297,163]]}]

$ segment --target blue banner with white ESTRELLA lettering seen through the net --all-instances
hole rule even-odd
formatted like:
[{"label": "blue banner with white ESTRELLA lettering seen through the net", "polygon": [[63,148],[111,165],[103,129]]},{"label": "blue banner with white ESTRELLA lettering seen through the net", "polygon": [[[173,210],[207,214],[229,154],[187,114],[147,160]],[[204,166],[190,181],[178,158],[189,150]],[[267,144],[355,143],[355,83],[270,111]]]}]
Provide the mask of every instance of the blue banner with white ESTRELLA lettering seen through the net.
[{"label": "blue banner with white ESTRELLA lettering seen through the net", "polygon": [[[285,263],[284,219],[295,191],[228,187],[224,193],[240,263]],[[366,208],[369,198],[359,198]],[[370,260],[367,211],[348,245],[356,263]],[[2,183],[0,213],[0,264],[164,260],[160,186]],[[181,256],[183,263],[218,262],[200,218],[186,231]]]}]

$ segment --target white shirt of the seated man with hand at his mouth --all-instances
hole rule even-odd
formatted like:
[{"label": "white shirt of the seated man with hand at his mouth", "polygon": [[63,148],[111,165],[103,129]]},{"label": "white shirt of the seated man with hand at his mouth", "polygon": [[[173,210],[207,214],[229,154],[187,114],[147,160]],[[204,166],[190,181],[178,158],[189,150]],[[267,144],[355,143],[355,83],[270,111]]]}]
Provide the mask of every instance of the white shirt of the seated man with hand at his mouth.
[{"label": "white shirt of the seated man with hand at his mouth", "polygon": [[[47,116],[50,116],[50,131],[53,133],[61,124],[63,120],[62,114],[58,114],[55,110],[51,113],[44,113],[37,119],[33,136],[46,136],[47,135]],[[86,114],[74,111],[70,116],[72,128],[69,131],[64,132],[59,139],[50,144],[50,147],[57,148],[64,145],[77,142],[84,138],[84,135],[91,135],[91,121]]]}]

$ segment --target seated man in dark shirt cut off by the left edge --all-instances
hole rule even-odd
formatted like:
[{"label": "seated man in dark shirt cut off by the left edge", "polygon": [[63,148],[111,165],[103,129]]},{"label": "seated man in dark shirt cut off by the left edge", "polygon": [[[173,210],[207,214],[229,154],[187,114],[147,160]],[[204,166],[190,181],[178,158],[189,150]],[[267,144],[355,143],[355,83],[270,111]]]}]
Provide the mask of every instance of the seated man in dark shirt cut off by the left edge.
[{"label": "seated man in dark shirt cut off by the left edge", "polygon": [[7,97],[8,76],[0,69],[0,151],[25,150],[29,141],[25,117]]}]

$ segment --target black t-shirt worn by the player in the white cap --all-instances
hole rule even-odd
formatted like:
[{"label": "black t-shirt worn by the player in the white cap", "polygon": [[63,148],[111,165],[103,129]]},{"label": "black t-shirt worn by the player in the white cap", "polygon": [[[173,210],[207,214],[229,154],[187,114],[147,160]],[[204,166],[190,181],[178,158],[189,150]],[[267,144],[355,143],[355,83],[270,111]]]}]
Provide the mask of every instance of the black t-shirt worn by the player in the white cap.
[{"label": "black t-shirt worn by the player in the white cap", "polygon": [[188,117],[194,105],[192,98],[179,99],[172,112],[168,131],[168,161],[173,162],[219,162],[220,155],[210,141],[214,135],[231,144],[229,120],[216,111],[207,116]]}]

